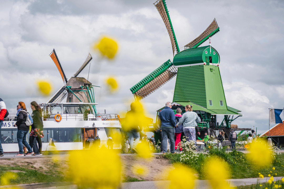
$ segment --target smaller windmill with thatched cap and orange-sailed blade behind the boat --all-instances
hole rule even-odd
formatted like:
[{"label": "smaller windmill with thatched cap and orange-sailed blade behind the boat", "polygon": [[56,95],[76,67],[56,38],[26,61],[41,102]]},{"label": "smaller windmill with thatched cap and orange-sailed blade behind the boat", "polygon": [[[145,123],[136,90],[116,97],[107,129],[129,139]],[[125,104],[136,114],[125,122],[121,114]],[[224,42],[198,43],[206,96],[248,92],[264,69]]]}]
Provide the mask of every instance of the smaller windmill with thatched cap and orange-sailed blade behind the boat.
[{"label": "smaller windmill with thatched cap and orange-sailed blade behind the boat", "polygon": [[[59,62],[55,50],[49,54],[53,62],[55,63],[64,85],[47,101],[47,103],[59,103],[67,96],[66,102],[86,102],[95,103],[93,85],[87,79],[83,77],[78,77],[82,70],[87,66],[87,64],[92,60],[92,56],[89,53],[87,59],[79,68],[79,70],[68,80],[64,74],[62,66]],[[93,105],[95,113],[97,110],[95,105]]]}]

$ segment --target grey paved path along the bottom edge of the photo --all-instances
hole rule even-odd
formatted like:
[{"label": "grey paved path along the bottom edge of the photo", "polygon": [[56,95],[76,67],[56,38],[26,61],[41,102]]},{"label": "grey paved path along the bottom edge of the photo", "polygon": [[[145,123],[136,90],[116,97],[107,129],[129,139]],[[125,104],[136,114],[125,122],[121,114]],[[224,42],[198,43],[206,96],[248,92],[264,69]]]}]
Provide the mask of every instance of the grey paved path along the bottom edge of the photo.
[{"label": "grey paved path along the bottom edge of the photo", "polygon": [[[274,177],[274,180],[281,180],[283,177]],[[269,177],[264,179],[259,178],[250,178],[250,179],[229,179],[227,180],[230,186],[243,186],[251,185],[258,183],[263,183],[269,180]],[[164,189],[170,183],[170,181],[141,181],[141,182],[124,182],[122,183],[122,189]],[[64,183],[62,183],[64,184]],[[54,185],[54,186],[52,186]],[[77,189],[76,185],[60,186],[58,183],[49,183],[49,184],[22,184],[18,185],[23,189],[28,188],[45,188],[45,189]],[[0,186],[0,188],[7,188],[7,186]],[[208,189],[211,188],[208,180],[196,180],[195,187],[198,189]]]}]

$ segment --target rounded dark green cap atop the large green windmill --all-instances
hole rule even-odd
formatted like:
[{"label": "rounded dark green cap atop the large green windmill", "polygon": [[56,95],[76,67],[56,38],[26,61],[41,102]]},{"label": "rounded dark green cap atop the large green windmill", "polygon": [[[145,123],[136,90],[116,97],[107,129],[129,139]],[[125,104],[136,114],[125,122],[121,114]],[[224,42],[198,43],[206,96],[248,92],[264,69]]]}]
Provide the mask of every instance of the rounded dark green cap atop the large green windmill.
[{"label": "rounded dark green cap atop the large green windmill", "polygon": [[[220,56],[219,53],[210,46],[198,47],[194,49],[186,49],[174,56],[174,66],[187,65],[187,64],[197,64],[208,62],[208,57],[212,57],[213,64],[219,64]],[[207,59],[206,59],[207,58]]]}]

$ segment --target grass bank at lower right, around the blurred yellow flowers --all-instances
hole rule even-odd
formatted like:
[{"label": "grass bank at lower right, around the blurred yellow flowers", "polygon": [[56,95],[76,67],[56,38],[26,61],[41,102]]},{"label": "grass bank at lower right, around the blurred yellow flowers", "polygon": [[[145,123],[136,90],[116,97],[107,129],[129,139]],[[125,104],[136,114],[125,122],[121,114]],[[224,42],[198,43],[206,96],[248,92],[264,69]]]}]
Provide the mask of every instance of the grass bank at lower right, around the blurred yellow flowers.
[{"label": "grass bank at lower right, around the blurred yellow flowers", "polygon": [[[268,167],[255,167],[250,161],[247,160],[246,154],[238,151],[233,151],[226,153],[225,150],[210,150],[210,156],[218,156],[229,164],[231,168],[231,178],[232,179],[244,179],[244,178],[257,178],[258,173],[268,177],[270,174],[273,177],[283,177],[284,176],[284,154],[278,156],[277,161]],[[166,154],[163,156],[168,159],[170,163],[180,163],[180,154]],[[205,179],[204,170],[206,170],[206,155],[200,154],[196,163],[187,164],[187,166],[194,169],[199,174],[199,179]],[[261,158],[261,157],[260,157]],[[275,171],[272,171],[272,167],[275,167]],[[272,173],[270,173],[272,171]],[[277,174],[277,176],[275,175]]]}]

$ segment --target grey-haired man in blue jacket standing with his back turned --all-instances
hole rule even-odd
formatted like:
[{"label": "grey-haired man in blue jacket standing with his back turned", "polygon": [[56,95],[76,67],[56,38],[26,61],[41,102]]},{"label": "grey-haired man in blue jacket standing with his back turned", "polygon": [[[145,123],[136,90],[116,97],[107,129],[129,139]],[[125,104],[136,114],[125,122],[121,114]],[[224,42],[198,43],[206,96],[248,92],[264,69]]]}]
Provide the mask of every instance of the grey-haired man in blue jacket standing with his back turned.
[{"label": "grey-haired man in blue jacket standing with his back turned", "polygon": [[161,129],[163,136],[163,154],[167,152],[167,140],[170,138],[171,153],[175,153],[175,127],[176,127],[176,117],[174,111],[171,109],[172,103],[167,102],[165,108],[160,112],[159,119],[161,121]]}]

